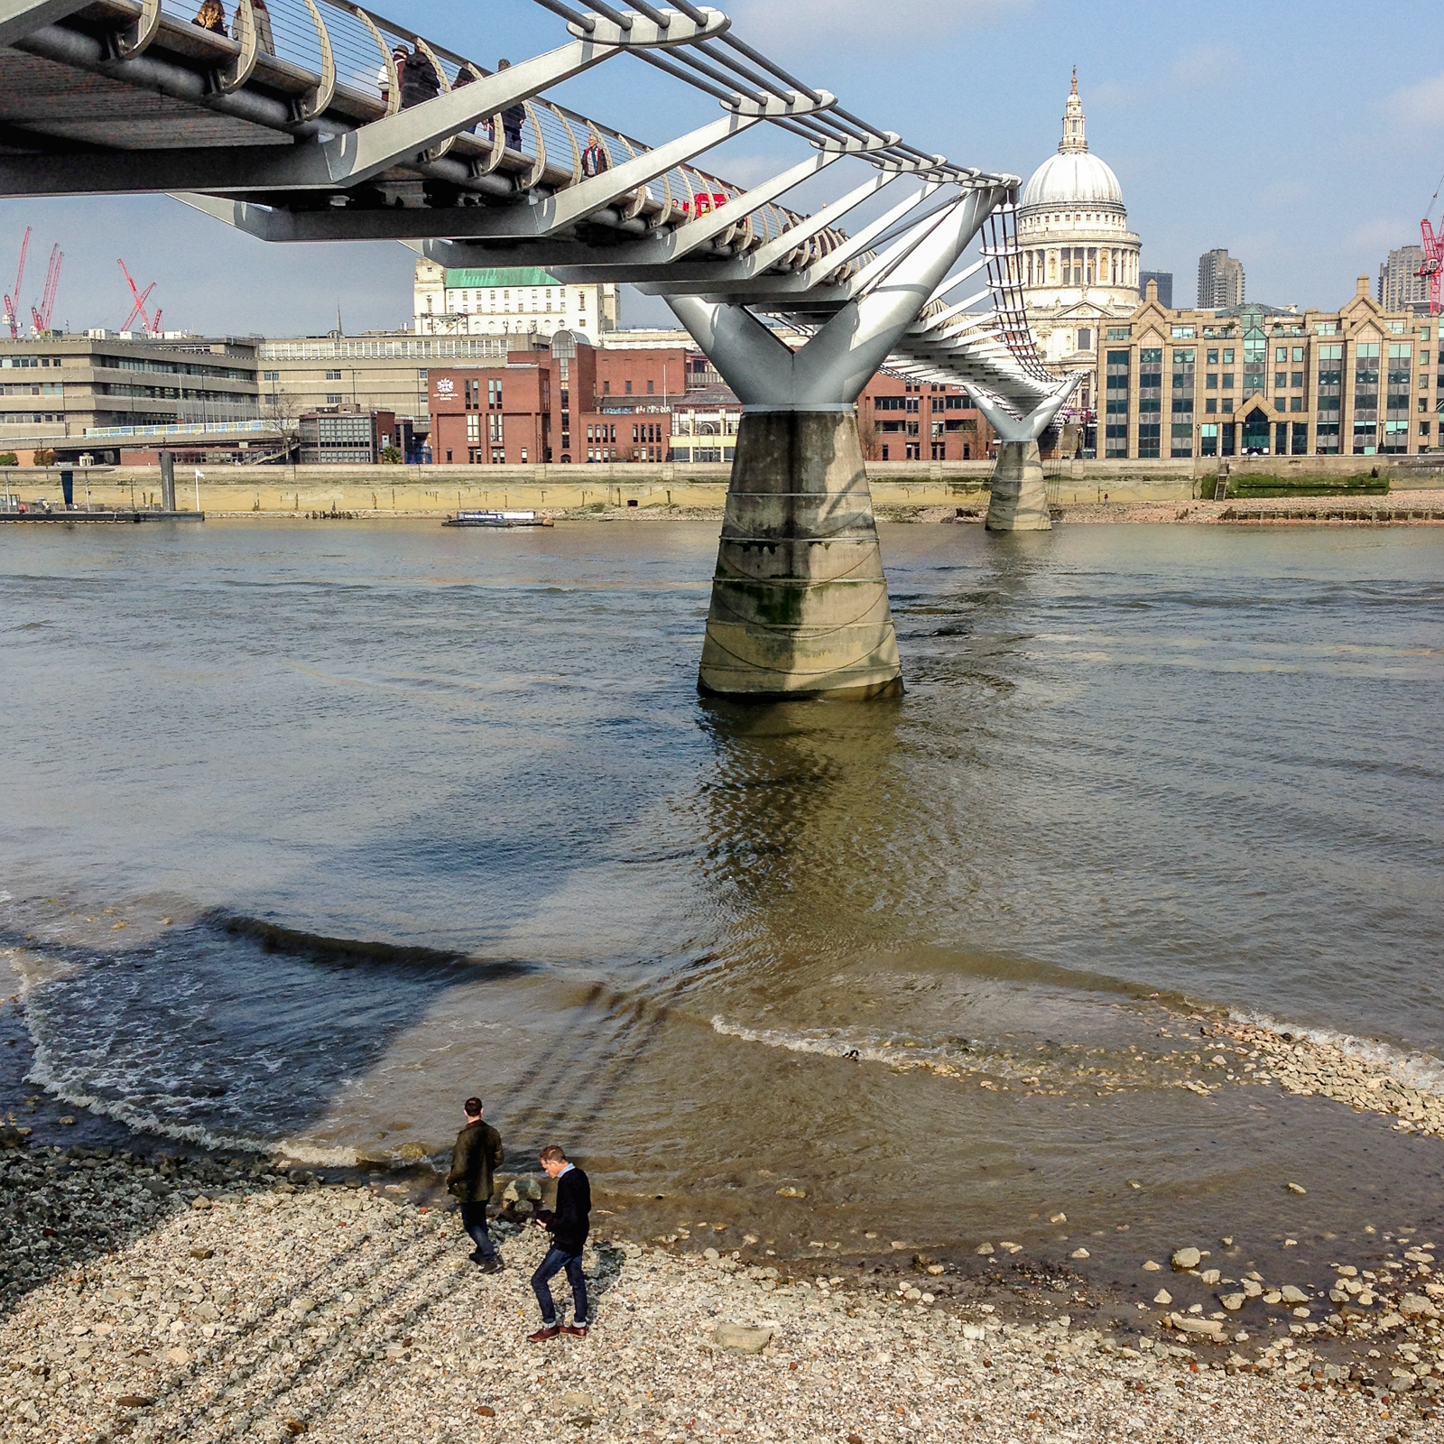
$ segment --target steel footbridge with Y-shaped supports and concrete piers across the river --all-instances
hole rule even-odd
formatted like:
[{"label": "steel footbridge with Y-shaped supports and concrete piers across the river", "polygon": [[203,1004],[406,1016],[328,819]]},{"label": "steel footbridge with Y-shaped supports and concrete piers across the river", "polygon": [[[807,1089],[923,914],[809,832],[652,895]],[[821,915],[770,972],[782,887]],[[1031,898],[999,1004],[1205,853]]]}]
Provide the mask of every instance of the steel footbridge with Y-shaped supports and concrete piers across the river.
[{"label": "steel footbridge with Y-shaped supports and concrete piers across the river", "polygon": [[[998,435],[989,529],[1047,529],[1038,438],[1079,377],[1028,328],[1019,179],[864,120],[709,6],[533,3],[557,43],[492,68],[347,0],[0,0],[0,195],[159,192],[263,241],[664,297],[744,403],[699,686],[900,692],[856,399],[879,367],[966,386]],[[549,97],[638,64],[716,118],[650,143]],[[758,126],[803,159],[749,186],[696,163]],[[833,166],[836,199],[784,204]]]}]

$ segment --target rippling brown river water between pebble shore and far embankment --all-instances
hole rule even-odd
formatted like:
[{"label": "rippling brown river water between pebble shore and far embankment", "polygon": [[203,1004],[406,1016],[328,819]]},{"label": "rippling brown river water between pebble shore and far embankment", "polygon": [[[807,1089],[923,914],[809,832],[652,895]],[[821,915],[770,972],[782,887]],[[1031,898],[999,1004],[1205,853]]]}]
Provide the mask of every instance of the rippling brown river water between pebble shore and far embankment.
[{"label": "rippling brown river water between pebble shore and far embankment", "polygon": [[316,1162],[481,1092],[799,1252],[1444,1225],[1438,1139],[1168,1071],[1232,1011],[1444,1077],[1444,534],[881,531],[907,695],[739,708],[715,523],[7,530],[32,1079]]}]

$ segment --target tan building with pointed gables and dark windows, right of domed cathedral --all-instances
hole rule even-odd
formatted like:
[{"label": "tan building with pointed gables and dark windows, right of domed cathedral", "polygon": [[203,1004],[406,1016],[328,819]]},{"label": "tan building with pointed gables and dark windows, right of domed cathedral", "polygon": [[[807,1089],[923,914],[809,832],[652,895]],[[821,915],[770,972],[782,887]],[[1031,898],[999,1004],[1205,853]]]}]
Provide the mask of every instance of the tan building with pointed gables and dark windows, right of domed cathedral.
[{"label": "tan building with pointed gables and dark windows, right of domed cathedral", "polygon": [[1360,276],[1334,312],[1152,293],[1103,339],[1109,458],[1415,455],[1438,445],[1438,318],[1391,313]]}]

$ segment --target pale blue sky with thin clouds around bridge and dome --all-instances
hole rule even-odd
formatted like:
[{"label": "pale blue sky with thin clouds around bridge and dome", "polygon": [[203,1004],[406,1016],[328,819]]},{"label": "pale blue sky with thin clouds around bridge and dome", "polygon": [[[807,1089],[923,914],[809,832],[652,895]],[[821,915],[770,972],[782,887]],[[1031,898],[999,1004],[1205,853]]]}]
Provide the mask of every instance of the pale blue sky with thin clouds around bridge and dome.
[{"label": "pale blue sky with thin clouds around bridge and dome", "polygon": [[[530,0],[381,0],[378,9],[487,65],[565,39],[562,22]],[[1199,253],[1223,245],[1243,261],[1251,299],[1337,306],[1389,247],[1418,241],[1444,173],[1444,49],[1427,6],[736,0],[723,9],[739,35],[851,110],[923,149],[1024,178],[1057,146],[1076,64],[1090,146],[1122,182],[1145,269],[1174,271],[1175,303],[1193,302]],[[630,58],[556,94],[645,140],[716,113]],[[702,163],[745,182],[799,155],[767,129]],[[791,202],[817,204],[846,182],[825,179]],[[168,326],[308,334],[332,326],[339,305],[347,331],[358,332],[410,313],[414,257],[400,245],[267,245],[160,196],[0,202],[6,290],[26,225],[35,234],[25,303],[38,297],[59,241],[55,319],[74,328],[124,319],[117,257],[142,284],[156,282]],[[624,315],[663,313],[628,299]]]}]

